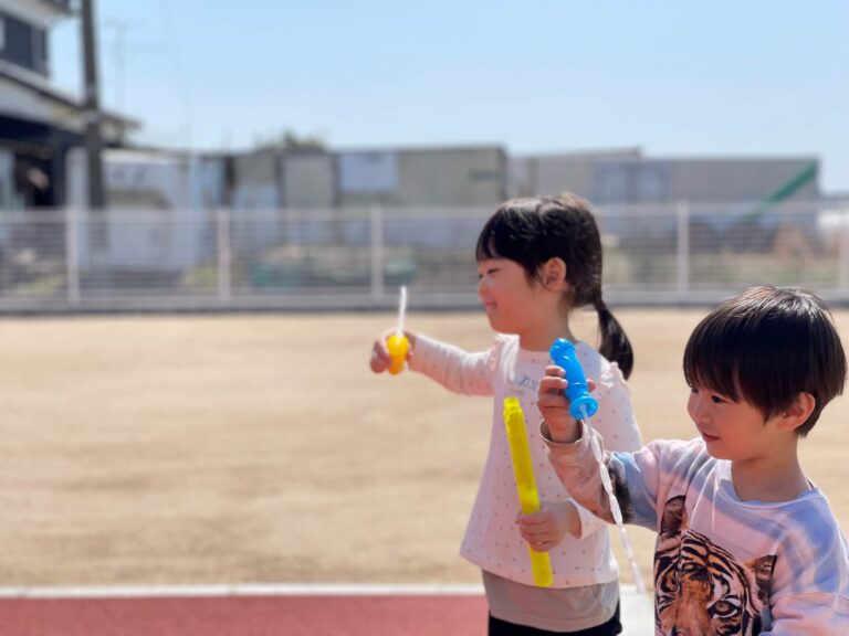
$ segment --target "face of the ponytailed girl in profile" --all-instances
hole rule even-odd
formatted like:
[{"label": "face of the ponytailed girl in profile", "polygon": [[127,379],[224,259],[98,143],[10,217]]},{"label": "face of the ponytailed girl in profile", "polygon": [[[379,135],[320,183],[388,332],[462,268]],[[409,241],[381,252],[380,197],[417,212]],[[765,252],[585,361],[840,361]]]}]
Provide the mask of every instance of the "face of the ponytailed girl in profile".
[{"label": "face of the ponytailed girl in profile", "polygon": [[485,258],[478,262],[478,296],[490,326],[499,333],[521,336],[535,325],[539,311],[537,287],[515,261]]}]

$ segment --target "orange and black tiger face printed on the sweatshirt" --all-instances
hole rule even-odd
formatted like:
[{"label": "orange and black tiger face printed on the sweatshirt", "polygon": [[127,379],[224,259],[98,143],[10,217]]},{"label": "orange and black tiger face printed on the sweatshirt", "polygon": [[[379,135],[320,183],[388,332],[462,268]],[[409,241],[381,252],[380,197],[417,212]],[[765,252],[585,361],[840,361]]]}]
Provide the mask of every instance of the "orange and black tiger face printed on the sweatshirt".
[{"label": "orange and black tiger face printed on the sweatshirt", "polygon": [[654,553],[654,623],[664,636],[756,636],[774,555],[741,563],[688,529],[684,497],[663,508]]}]

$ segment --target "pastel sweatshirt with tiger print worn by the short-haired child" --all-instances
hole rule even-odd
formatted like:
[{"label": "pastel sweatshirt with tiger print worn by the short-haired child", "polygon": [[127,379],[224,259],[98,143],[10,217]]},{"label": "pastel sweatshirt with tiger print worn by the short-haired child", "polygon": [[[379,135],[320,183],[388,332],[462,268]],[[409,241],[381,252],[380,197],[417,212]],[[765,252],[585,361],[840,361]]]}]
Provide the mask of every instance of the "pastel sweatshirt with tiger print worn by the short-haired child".
[{"label": "pastel sweatshirt with tiger print worn by the short-haired child", "polygon": [[[612,521],[589,437],[541,434],[569,494]],[[741,500],[731,462],[701,438],[605,453],[626,522],[658,532],[657,635],[849,635],[849,548],[816,487],[790,501]]]}]

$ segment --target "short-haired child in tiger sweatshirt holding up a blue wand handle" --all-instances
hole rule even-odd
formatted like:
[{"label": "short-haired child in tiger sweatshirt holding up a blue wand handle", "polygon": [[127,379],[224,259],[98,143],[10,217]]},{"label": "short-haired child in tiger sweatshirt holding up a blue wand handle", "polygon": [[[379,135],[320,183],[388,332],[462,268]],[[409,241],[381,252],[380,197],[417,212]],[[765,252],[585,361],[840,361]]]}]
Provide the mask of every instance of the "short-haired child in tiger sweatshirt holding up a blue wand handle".
[{"label": "short-haired child in tiger sweatshirt holding up a blue wand handle", "polygon": [[[541,434],[569,494],[611,522],[598,434],[569,416],[562,375],[539,384]],[[658,635],[849,634],[849,549],[797,457],[845,377],[811,294],[755,287],[696,326],[684,378],[700,437],[605,453],[625,520],[658,531]]]}]

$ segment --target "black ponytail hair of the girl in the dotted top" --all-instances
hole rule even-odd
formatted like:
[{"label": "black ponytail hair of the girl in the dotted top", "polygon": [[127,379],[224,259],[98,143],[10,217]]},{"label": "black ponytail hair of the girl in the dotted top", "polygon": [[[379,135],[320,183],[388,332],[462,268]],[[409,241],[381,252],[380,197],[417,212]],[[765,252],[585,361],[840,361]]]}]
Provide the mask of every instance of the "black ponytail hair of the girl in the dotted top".
[{"label": "black ponytail hair of the girl in the dotted top", "polygon": [[544,263],[562,258],[572,286],[572,307],[596,309],[600,353],[617,362],[626,378],[631,374],[631,342],[601,299],[601,237],[589,203],[574,194],[506,201],[481,230],[475,256],[514,261],[535,280]]}]

